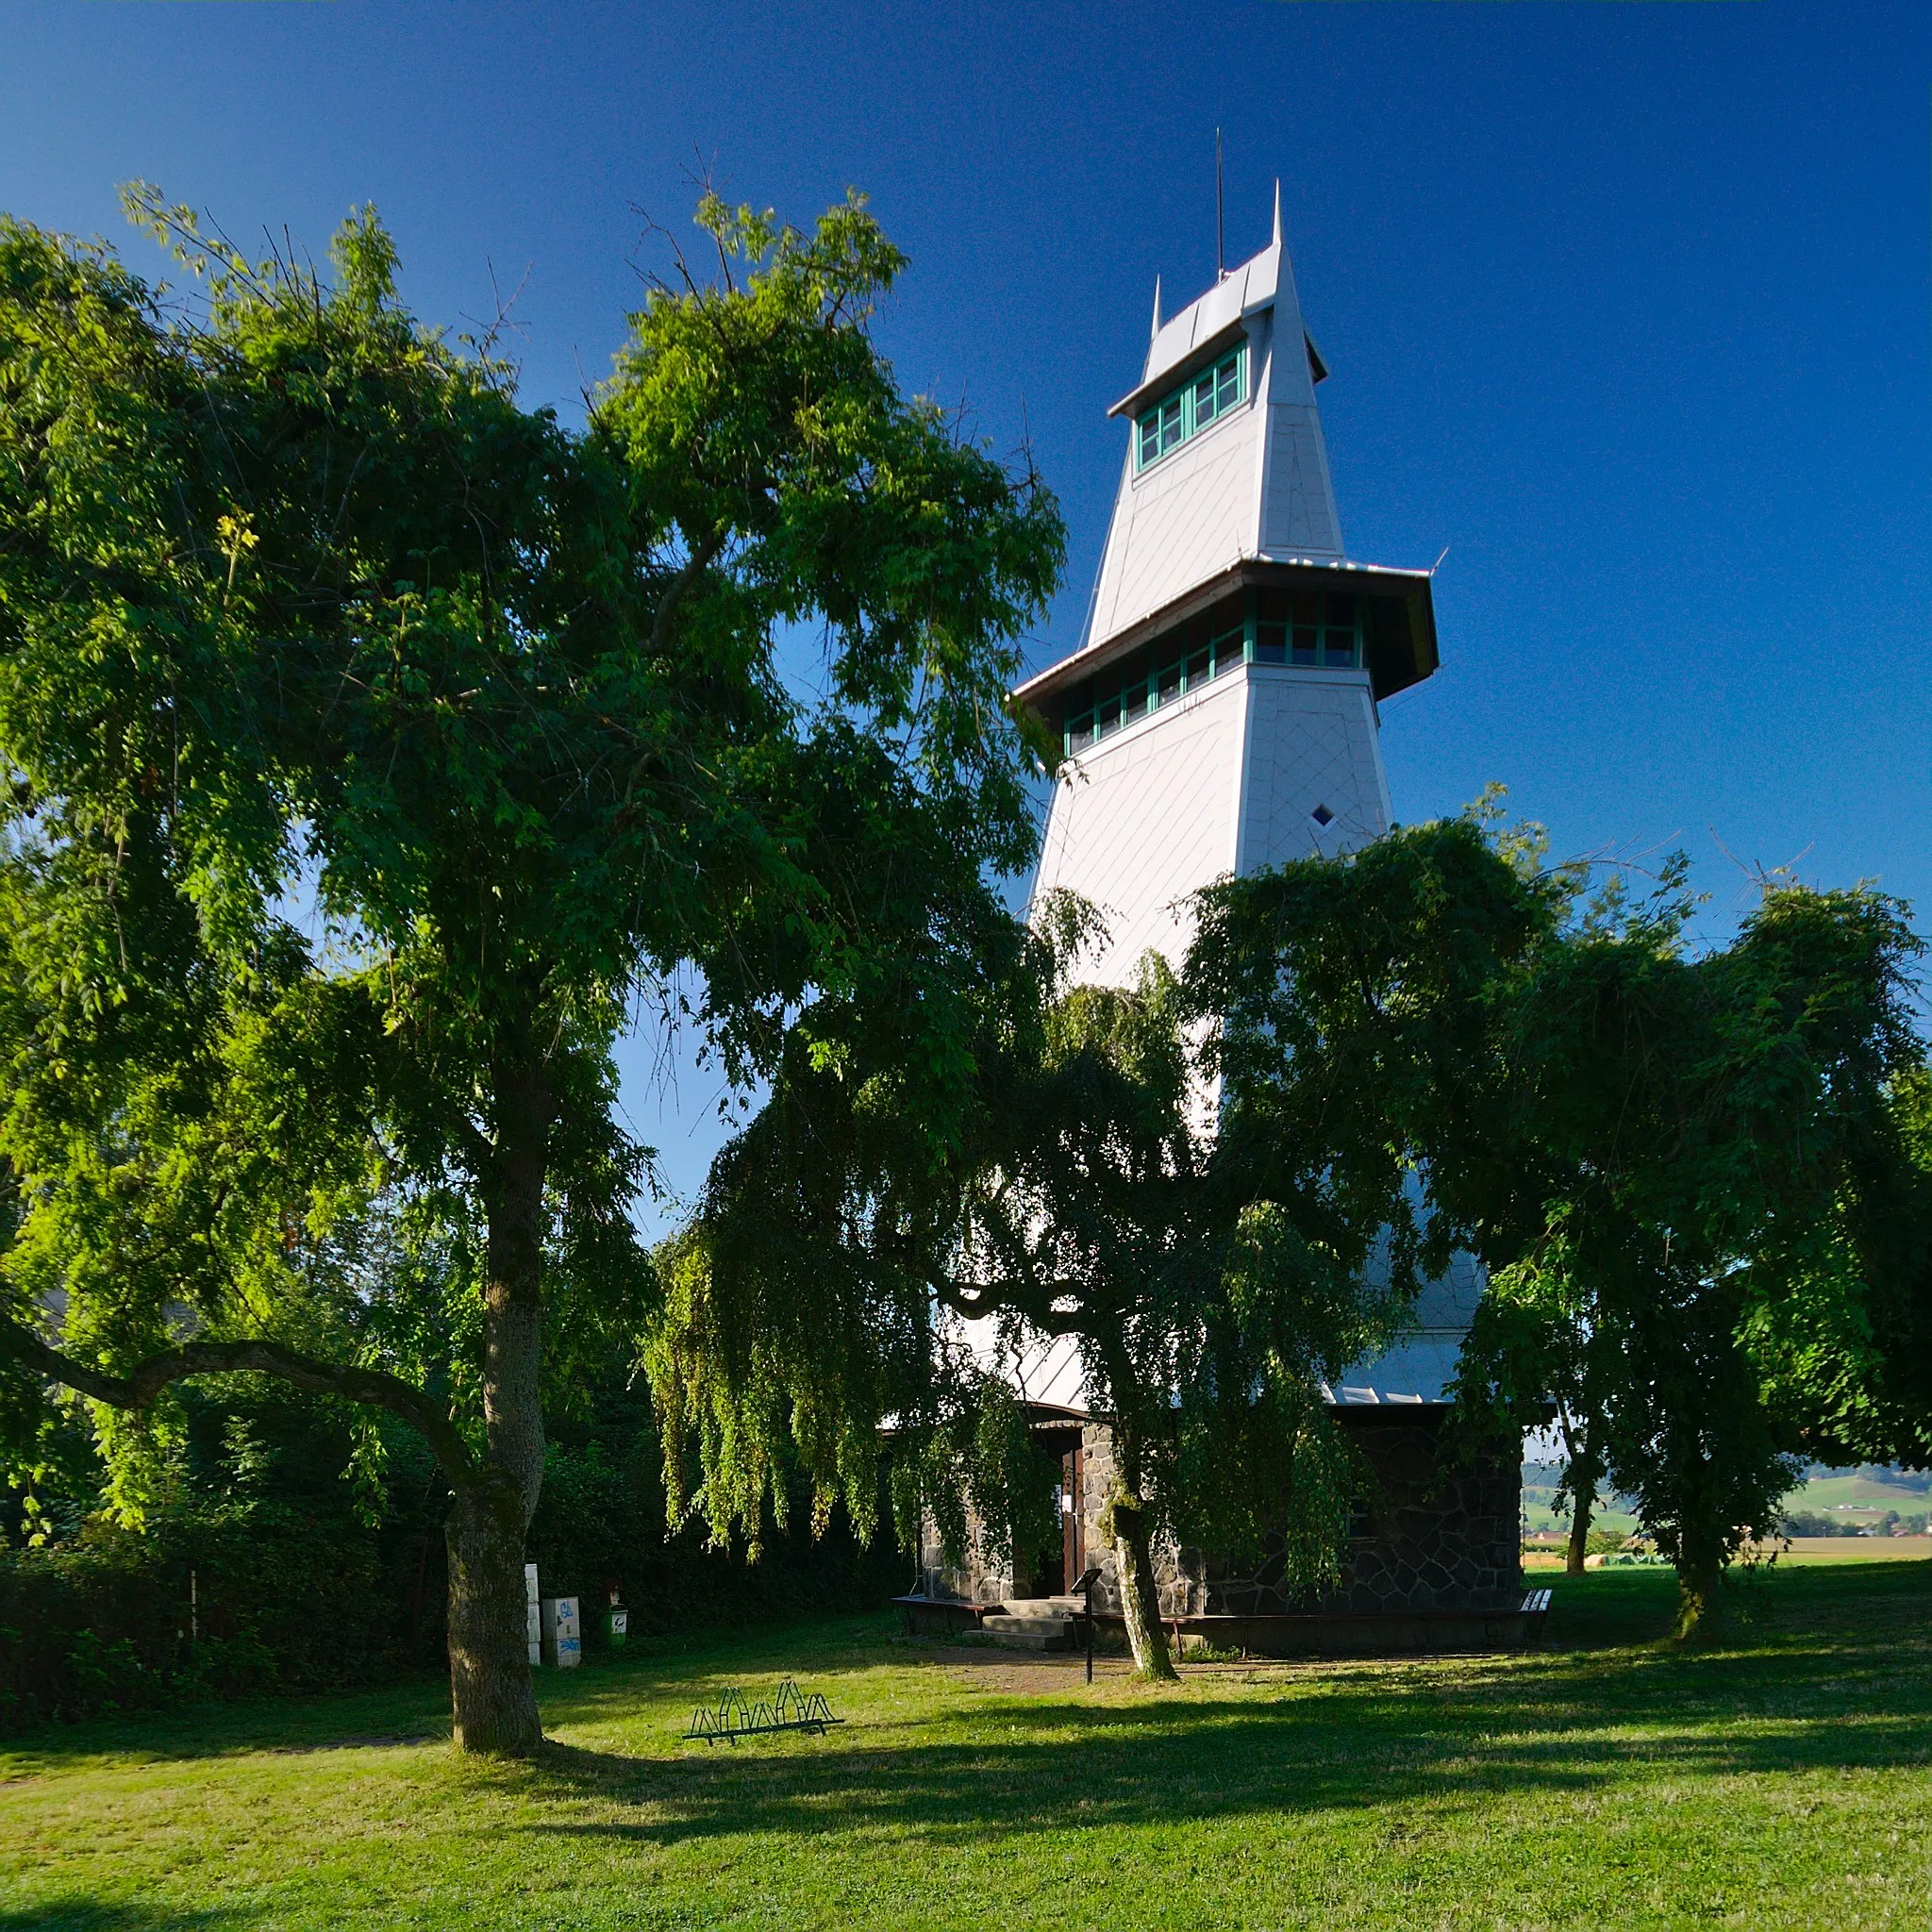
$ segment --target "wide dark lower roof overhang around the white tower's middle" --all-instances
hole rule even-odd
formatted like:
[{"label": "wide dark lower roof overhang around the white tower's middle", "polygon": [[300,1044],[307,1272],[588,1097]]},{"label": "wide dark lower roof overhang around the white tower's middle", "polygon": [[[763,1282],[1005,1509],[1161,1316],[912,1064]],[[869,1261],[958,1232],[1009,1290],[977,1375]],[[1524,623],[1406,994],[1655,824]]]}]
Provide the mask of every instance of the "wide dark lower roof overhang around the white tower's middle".
[{"label": "wide dark lower roof overhang around the white tower's middle", "polygon": [[1395,570],[1385,564],[1323,562],[1312,556],[1271,558],[1244,556],[1217,576],[1196,583],[1186,595],[1175,597],[1159,611],[1109,638],[1082,645],[1072,657],[1020,684],[1012,697],[1043,715],[1057,711],[1066,692],[1084,678],[1103,670],[1119,657],[1140,649],[1161,632],[1184,624],[1200,611],[1221,603],[1231,591],[1246,585],[1281,589],[1350,591],[1368,609],[1368,674],[1378,701],[1393,697],[1432,676],[1441,655],[1435,647],[1435,601],[1428,570]]}]

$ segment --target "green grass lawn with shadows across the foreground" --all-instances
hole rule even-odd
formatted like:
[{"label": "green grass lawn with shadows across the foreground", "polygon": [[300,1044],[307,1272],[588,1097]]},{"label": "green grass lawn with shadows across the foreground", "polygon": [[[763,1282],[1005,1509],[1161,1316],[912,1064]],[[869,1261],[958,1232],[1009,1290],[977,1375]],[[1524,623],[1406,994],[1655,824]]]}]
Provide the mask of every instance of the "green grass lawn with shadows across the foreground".
[{"label": "green grass lawn with shadows across the foreground", "polygon": [[[39,1733],[0,1756],[0,1928],[1915,1926],[1932,1563],[1774,1573],[1731,1646],[1671,1577],[1555,1578],[1511,1658],[1103,1669],[736,1634],[547,1679],[545,1762],[435,1685]],[[796,1671],[850,1719],[705,1750]]]}]

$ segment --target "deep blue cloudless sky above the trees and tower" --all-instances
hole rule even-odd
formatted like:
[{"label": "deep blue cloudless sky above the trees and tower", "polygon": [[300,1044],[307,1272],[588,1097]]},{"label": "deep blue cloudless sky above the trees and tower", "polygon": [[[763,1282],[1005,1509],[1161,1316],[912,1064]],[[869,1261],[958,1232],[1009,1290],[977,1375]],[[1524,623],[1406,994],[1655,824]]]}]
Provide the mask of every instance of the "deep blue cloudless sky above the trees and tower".
[{"label": "deep blue cloudless sky above the trees and tower", "polygon": [[[639,214],[699,162],[912,255],[908,386],[1030,435],[1078,630],[1140,371],[1267,238],[1275,176],[1350,554],[1430,564],[1443,670],[1385,709],[1397,815],[1501,779],[1563,854],[1878,879],[1932,925],[1932,8],[1708,4],[0,4],[0,207],[124,228],[131,176],[321,253],[373,199],[431,319],[524,284],[578,408]],[[527,270],[527,280],[526,280]],[[1719,850],[1719,846],[1723,850]],[[641,1063],[641,1057],[639,1057]],[[632,1082],[690,1182],[711,1092]]]}]

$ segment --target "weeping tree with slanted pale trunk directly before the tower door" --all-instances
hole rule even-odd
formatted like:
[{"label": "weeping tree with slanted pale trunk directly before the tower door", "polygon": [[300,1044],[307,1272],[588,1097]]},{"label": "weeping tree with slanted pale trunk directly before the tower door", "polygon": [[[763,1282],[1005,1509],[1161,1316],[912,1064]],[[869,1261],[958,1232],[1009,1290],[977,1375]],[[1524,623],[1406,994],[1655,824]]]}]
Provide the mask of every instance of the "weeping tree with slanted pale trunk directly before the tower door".
[{"label": "weeping tree with slanted pale trunk directly before the tower door", "polygon": [[651,1362],[694,1453],[672,1482],[715,1530],[755,1520],[784,1453],[827,1499],[862,1493],[891,1424],[912,1544],[927,1515],[962,1520],[970,1484],[981,1519],[1024,1519],[1010,1420],[974,1420],[1001,1393],[1010,1418],[983,1364],[1070,1339],[1113,1437],[1101,1526],[1134,1660],[1173,1675],[1163,1540],[1279,1536],[1291,1586],[1337,1575],[1372,1478],[1321,1383],[1395,1331],[1422,1240],[1401,1169],[1352,1159],[1366,1140],[1291,1163],[1213,1132],[1198,1003],[1157,954],[1130,987],[1078,985],[1090,931],[1057,902],[981,949],[947,1142],[854,1034],[794,1041],[719,1155]]}]

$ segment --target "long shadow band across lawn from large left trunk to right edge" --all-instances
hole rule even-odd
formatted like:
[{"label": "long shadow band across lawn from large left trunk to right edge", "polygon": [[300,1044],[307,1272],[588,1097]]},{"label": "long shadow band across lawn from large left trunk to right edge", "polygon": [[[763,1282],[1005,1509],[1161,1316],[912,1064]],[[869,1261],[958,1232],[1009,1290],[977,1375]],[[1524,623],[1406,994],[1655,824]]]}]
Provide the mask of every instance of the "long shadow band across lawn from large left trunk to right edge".
[{"label": "long shadow band across lawn from large left trunk to right edge", "polygon": [[[1903,1594],[1895,1607],[1920,1600]],[[1847,1619],[1772,1634],[1704,1654],[1379,1663],[1229,1683],[1219,1694],[1196,1679],[1188,1692],[1124,1704],[1095,1704],[1074,1687],[972,1696],[918,1727],[703,1754],[551,1745],[535,1789],[595,1797],[612,1816],[539,1812],[518,1830],[659,1847],[867,1828],[999,1839],[1613,1791],[1660,1764],[1681,1777],[1926,1766],[1932,1642],[1922,1625],[1907,1633],[1888,1619],[1861,1631]]]}]

